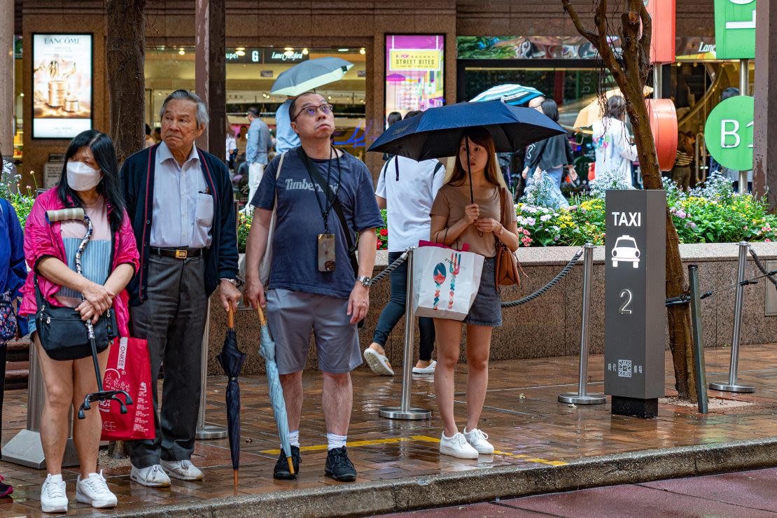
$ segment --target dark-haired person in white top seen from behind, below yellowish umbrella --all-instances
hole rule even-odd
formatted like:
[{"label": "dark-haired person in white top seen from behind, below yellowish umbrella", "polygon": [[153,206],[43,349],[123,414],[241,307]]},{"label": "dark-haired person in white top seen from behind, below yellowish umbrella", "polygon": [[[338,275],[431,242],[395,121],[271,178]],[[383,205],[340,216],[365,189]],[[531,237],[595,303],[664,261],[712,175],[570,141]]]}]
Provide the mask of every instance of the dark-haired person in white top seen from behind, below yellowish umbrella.
[{"label": "dark-haired person in white top seen from behind, below yellowish umbrella", "polygon": [[632,144],[625,124],[626,102],[622,96],[607,99],[602,120],[594,123],[596,176],[610,172],[632,185],[632,162],[636,160],[636,145]]}]

